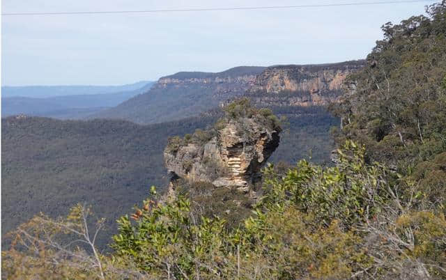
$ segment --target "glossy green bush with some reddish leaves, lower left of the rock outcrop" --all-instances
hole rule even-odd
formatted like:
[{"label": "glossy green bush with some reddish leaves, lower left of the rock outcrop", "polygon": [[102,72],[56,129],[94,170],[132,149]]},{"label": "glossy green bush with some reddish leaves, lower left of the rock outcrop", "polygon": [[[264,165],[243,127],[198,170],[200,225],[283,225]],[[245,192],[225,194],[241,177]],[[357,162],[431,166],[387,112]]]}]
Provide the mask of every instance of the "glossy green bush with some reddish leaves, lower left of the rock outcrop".
[{"label": "glossy green bush with some reddish leaves, lower left of the rock outcrop", "polygon": [[178,278],[195,270],[212,273],[203,263],[214,261],[209,256],[223,245],[224,220],[191,216],[190,201],[181,196],[152,205],[141,213],[137,224],[125,216],[118,225],[119,233],[113,238],[116,256],[157,277],[164,272]]}]

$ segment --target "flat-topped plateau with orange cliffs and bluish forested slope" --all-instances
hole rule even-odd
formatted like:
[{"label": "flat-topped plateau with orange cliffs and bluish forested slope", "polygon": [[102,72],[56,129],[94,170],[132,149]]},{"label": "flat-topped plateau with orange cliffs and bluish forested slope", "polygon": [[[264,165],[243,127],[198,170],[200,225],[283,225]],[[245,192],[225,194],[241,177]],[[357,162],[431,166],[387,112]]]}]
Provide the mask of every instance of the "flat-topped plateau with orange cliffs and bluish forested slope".
[{"label": "flat-topped plateau with orange cliffs and bluish forested slope", "polygon": [[364,61],[320,65],[240,66],[217,73],[178,72],[150,91],[91,118],[121,118],[149,124],[180,120],[247,96],[259,107],[325,105],[341,95],[345,77]]}]

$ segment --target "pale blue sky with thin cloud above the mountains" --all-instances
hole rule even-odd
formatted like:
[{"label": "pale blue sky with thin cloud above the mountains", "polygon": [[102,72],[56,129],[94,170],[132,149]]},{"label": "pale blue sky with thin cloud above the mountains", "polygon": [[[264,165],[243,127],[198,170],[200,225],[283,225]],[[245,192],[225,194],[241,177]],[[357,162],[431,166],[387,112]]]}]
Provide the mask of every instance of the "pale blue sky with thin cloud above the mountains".
[{"label": "pale blue sky with thin cloud above the mountains", "polygon": [[[1,13],[166,10],[371,0],[2,0]],[[390,0],[376,0],[390,1]],[[374,6],[1,17],[1,85],[118,85],[179,71],[364,59],[380,26],[436,1]]]}]

